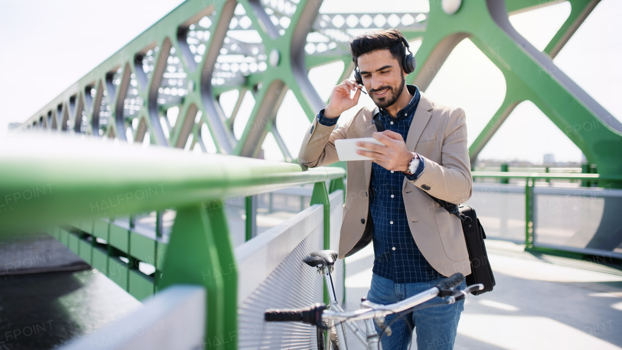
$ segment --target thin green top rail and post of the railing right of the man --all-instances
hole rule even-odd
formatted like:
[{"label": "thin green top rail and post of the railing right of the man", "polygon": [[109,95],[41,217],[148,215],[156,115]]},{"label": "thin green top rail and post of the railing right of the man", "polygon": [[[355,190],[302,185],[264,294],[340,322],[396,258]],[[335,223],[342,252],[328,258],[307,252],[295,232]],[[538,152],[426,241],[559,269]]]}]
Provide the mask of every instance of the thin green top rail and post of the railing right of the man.
[{"label": "thin green top rail and post of the railing right of the man", "polygon": [[[600,174],[572,173],[522,173],[508,171],[472,171],[473,180],[477,178],[499,179],[501,184],[509,184],[509,179],[525,181],[525,247],[531,250],[547,250],[534,247],[534,186],[537,180],[549,182],[551,179],[570,179],[598,183],[600,187],[608,187],[622,181],[622,176],[602,176]],[[610,181],[611,183],[606,183]]]}]

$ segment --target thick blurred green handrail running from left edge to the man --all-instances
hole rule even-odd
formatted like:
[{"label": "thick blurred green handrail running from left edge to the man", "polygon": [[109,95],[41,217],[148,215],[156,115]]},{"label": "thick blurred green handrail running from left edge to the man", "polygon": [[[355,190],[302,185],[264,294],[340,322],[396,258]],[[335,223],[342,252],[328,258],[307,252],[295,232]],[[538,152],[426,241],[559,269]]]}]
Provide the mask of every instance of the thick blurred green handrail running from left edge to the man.
[{"label": "thick blurred green handrail running from left edge to the man", "polygon": [[[341,168],[303,171],[297,164],[260,159],[45,137],[45,149],[36,146],[44,138],[40,135],[0,140],[4,150],[0,207],[12,210],[2,221],[4,232],[163,210],[345,176]],[[99,230],[96,226],[95,232]]]}]

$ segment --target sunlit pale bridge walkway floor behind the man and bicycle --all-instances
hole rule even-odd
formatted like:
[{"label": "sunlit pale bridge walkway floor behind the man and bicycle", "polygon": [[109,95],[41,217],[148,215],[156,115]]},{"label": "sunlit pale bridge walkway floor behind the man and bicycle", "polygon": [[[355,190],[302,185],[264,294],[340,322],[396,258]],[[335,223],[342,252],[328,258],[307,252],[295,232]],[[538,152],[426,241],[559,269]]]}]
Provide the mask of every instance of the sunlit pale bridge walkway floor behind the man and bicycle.
[{"label": "sunlit pale bridge walkway floor behind the man and bicycle", "polygon": [[[466,300],[455,350],[622,349],[622,271],[501,240],[486,248],[497,284]],[[346,258],[350,310],[367,295],[372,265],[371,245]]]}]

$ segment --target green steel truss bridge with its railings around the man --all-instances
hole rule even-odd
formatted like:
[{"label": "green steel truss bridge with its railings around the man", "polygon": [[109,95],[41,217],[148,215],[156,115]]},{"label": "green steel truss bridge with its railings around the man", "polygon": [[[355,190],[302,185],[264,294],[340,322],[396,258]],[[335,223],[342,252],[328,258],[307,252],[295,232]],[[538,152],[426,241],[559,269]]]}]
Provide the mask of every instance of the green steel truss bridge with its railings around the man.
[{"label": "green steel truss bridge with its railings around the man", "polygon": [[[152,314],[143,309],[134,321],[166,320],[165,331],[116,339],[118,348],[137,349],[141,341],[145,349],[287,348],[284,334],[313,348],[310,328],[243,331],[262,323],[261,307],[327,300],[315,272],[288,266],[311,248],[338,246],[345,164],[302,169],[297,148],[282,137],[290,131],[277,128],[277,112],[292,93],[313,120],[327,101],[309,70],[341,61],[338,81],[346,79],[354,69],[348,30],[395,27],[408,40],[422,40],[407,83],[424,92],[466,38],[503,73],[505,98],[471,144],[471,164],[527,100],[585,154],[580,173],[473,169],[470,203],[501,222],[489,237],[536,254],[620,265],[622,124],[552,61],[599,1],[567,1],[570,16],[539,51],[514,30],[508,14],[557,1],[453,1],[458,9],[451,11],[452,1],[435,0],[428,12],[325,14],[321,0],[187,0],[0,141],[2,236],[12,242],[48,234],[137,300],[156,295],[146,302]],[[249,102],[252,111],[241,120],[246,116],[238,112]],[[256,159],[264,158],[266,142],[277,144],[284,162]],[[554,182],[577,186],[549,186]],[[261,231],[259,207],[276,212],[277,201],[291,214]],[[583,212],[583,221],[568,219],[569,207]],[[555,231],[569,222],[580,229],[569,237]],[[26,255],[2,252],[10,262],[5,277],[35,271],[26,267]],[[75,270],[84,267],[74,263]],[[344,262],[335,276],[346,302]],[[174,333],[177,323],[185,333]],[[106,348],[111,345],[101,339],[127,327],[75,327],[48,344],[76,338],[67,349]],[[95,328],[98,335],[89,335]],[[157,338],[169,332],[185,340]],[[23,339],[11,334],[0,341]],[[156,338],[161,343],[153,343]]]}]

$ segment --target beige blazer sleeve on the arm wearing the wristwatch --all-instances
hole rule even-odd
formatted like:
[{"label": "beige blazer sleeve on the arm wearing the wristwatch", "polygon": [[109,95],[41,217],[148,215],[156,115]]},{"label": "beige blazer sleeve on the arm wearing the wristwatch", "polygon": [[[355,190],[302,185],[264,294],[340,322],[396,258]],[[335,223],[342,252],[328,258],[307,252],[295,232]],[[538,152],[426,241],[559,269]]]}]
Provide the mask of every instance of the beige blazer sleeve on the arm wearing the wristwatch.
[{"label": "beige blazer sleeve on the arm wearing the wristwatch", "polygon": [[443,135],[441,164],[419,156],[425,161],[425,170],[411,181],[412,184],[453,204],[466,202],[471,197],[473,177],[466,141],[466,116],[462,108],[450,111]]}]

